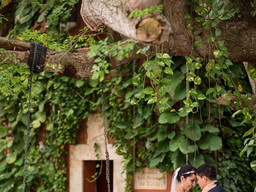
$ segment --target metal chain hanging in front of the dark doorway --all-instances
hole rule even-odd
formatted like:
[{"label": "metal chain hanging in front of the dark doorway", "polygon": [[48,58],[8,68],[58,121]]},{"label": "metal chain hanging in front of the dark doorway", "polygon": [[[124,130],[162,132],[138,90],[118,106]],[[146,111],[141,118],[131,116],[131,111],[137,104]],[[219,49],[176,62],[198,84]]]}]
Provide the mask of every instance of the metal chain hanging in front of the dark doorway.
[{"label": "metal chain hanging in front of the dark doorway", "polygon": [[104,126],[104,138],[105,138],[105,154],[106,154],[106,180],[108,182],[108,192],[110,192],[109,154],[108,154],[108,140],[107,140],[106,112],[105,112],[103,81],[101,82],[101,94],[102,94],[102,115],[103,115],[103,126]]}]

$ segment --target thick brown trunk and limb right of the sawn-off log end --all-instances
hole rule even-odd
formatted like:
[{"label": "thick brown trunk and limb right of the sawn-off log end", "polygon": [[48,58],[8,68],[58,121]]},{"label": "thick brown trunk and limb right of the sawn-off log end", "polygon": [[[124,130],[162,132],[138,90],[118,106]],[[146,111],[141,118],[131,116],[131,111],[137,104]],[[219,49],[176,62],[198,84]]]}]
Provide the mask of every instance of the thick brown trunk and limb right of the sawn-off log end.
[{"label": "thick brown trunk and limb right of the sawn-off log end", "polygon": [[[169,48],[165,50],[170,55],[190,55],[192,50],[192,32],[187,28],[189,19],[184,19],[184,13],[190,13],[190,7],[186,4],[186,0],[164,0],[164,14],[170,22],[172,34],[164,45]],[[192,18],[194,19],[194,18]],[[256,22],[252,20],[242,20],[239,22],[223,22],[217,26],[221,35],[217,40],[224,40],[225,46],[228,48],[229,59],[232,62],[250,61],[256,67]],[[206,33],[203,27],[198,24],[194,26],[195,30],[199,29],[201,33],[194,36],[194,42],[202,42],[203,46],[194,47],[193,56],[204,58],[212,55],[212,51],[218,49],[215,45],[208,45],[205,42]],[[212,34],[214,35],[214,30]],[[217,45],[217,44],[216,44]],[[217,45],[218,46],[218,45]]]}]

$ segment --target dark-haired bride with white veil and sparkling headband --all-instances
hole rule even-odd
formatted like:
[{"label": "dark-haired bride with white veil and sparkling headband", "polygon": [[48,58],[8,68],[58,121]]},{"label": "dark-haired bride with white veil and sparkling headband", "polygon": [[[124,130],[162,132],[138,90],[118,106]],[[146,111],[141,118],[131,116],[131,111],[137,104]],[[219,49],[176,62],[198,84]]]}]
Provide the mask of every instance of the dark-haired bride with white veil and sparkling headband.
[{"label": "dark-haired bride with white veil and sparkling headband", "polygon": [[[186,164],[176,169],[172,176],[171,192],[189,191],[193,186],[196,186],[196,168],[190,164]],[[215,186],[215,184],[208,184],[202,192],[208,192]]]}]

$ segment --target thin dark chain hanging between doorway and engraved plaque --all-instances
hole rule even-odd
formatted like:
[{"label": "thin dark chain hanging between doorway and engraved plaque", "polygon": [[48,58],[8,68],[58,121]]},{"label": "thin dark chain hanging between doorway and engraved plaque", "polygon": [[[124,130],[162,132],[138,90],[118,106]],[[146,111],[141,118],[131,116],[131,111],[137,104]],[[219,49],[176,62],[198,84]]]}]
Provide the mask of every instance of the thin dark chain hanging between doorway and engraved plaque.
[{"label": "thin dark chain hanging between doorway and engraved plaque", "polygon": [[[135,73],[135,62],[133,62],[132,66],[133,74]],[[135,86],[133,86],[133,97],[135,98]],[[135,145],[135,105],[133,105],[133,177],[132,177],[132,189],[133,192],[135,192],[135,169],[136,169],[136,161],[135,161],[135,151],[136,151],[136,145]]]}]

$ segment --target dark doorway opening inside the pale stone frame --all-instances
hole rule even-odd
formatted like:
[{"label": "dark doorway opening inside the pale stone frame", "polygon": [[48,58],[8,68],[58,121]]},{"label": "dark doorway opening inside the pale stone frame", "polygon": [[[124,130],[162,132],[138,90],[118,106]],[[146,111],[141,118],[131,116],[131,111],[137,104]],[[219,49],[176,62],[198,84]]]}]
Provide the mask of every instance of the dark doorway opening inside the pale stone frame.
[{"label": "dark doorway opening inside the pale stone frame", "polygon": [[[109,161],[110,167],[110,192],[113,192],[113,160]],[[99,166],[96,166],[96,165]],[[102,160],[102,171],[100,176],[94,182],[91,177],[96,172],[100,172],[101,161],[84,161],[84,192],[106,192],[108,191],[108,182],[106,181],[106,160]]]}]

